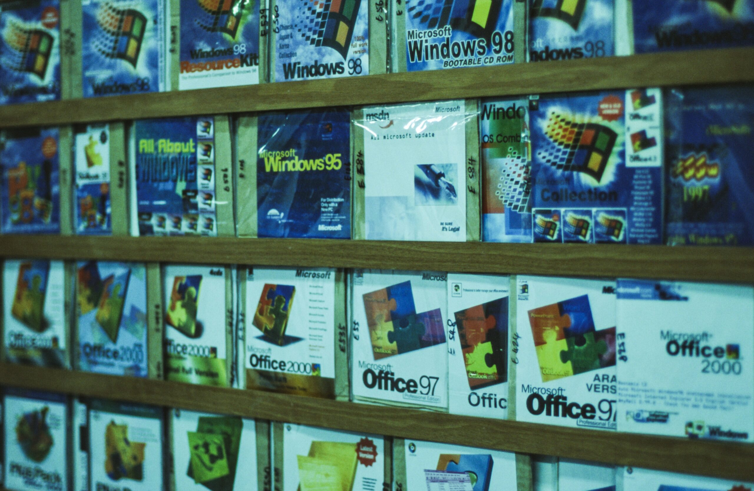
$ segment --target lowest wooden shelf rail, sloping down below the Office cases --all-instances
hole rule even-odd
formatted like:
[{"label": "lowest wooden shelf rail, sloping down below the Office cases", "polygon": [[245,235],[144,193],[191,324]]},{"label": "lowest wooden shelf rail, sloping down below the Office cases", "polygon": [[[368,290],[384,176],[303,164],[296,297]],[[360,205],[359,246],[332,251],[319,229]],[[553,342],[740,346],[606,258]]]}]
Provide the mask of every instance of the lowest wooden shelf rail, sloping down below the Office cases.
[{"label": "lowest wooden shelf rail, sloping down below the Office cases", "polygon": [[0,385],[754,481],[754,445],[452,416],[261,391],[0,364]]}]

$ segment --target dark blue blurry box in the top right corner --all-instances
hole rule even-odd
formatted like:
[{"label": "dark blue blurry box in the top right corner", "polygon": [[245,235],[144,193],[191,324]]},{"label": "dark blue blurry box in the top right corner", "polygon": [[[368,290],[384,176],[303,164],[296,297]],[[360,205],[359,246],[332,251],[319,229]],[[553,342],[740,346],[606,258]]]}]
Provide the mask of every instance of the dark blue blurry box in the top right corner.
[{"label": "dark blue blurry box in the top right corner", "polygon": [[754,44],[749,0],[633,0],[636,53]]}]

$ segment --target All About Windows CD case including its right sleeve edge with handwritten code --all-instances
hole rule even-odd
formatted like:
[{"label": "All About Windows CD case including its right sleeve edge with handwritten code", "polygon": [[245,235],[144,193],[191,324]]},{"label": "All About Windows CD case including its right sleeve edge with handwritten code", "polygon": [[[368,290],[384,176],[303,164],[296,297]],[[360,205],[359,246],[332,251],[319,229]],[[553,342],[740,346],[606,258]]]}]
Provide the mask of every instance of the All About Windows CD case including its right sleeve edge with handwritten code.
[{"label": "All About Windows CD case including its right sleeve edge with handwritten code", "polygon": [[136,121],[130,155],[131,235],[235,235],[228,116]]}]

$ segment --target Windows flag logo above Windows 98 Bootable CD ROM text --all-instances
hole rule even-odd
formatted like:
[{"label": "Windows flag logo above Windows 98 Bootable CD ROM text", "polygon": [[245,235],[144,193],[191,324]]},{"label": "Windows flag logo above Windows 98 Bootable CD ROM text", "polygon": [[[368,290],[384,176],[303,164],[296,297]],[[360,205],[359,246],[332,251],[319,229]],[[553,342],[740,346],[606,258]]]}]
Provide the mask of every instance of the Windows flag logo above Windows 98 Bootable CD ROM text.
[{"label": "Windows flag logo above Windows 98 Bootable CD ROM text", "polygon": [[419,0],[409,6],[408,14],[426,24],[428,29],[449,25],[489,41],[495,32],[502,4],[502,0]]}]

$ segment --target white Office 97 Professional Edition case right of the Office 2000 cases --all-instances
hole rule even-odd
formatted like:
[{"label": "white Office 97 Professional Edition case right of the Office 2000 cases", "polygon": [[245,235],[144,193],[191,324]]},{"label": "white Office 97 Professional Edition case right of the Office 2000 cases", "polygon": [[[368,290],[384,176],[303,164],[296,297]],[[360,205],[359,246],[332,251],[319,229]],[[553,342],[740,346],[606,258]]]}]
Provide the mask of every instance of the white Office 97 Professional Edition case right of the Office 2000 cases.
[{"label": "white Office 97 Professional Edition case right of the Office 2000 cases", "polygon": [[351,275],[354,400],[447,412],[446,273],[355,269]]}]

